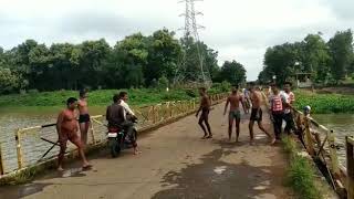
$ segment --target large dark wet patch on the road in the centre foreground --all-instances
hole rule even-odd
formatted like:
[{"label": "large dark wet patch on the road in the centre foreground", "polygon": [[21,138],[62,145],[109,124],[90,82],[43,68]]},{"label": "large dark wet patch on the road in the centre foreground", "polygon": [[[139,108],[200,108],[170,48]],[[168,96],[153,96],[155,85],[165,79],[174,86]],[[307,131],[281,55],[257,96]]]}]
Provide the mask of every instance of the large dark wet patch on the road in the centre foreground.
[{"label": "large dark wet patch on the road in the centre foreground", "polygon": [[[160,181],[164,190],[155,193],[153,199],[246,199],[269,197],[272,187],[273,170],[270,166],[253,167],[246,161],[229,164],[222,156],[232,155],[231,147],[216,149],[200,158],[200,164],[187,165],[180,171],[169,171]],[[268,193],[268,195],[267,195]]]}]

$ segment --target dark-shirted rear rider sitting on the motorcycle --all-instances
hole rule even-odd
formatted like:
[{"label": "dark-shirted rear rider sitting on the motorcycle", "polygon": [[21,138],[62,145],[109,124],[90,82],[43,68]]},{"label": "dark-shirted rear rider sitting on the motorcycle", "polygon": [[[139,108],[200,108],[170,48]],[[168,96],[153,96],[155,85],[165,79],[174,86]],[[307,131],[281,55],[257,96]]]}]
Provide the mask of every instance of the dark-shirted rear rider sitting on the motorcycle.
[{"label": "dark-shirted rear rider sitting on the motorcycle", "polygon": [[134,147],[134,155],[138,154],[137,143],[134,135],[133,122],[128,121],[126,117],[125,108],[121,105],[121,95],[115,94],[113,96],[113,104],[107,107],[106,119],[108,122],[108,129],[111,132],[114,129],[123,128]]}]

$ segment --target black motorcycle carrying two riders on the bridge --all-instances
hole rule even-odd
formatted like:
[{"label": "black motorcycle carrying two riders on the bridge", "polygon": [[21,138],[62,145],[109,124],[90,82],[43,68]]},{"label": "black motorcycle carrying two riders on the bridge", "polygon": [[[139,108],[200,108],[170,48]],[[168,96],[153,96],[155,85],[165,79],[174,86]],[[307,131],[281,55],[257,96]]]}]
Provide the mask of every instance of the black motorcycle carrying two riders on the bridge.
[{"label": "black motorcycle carrying two riders on the bridge", "polygon": [[[135,140],[137,139],[137,130],[135,127],[136,123],[137,121],[134,119],[133,136],[135,137]],[[108,139],[108,148],[111,151],[111,156],[113,158],[117,157],[121,154],[121,150],[133,147],[133,144],[129,140],[129,137],[127,136],[126,132],[123,128],[108,127],[107,139]]]}]

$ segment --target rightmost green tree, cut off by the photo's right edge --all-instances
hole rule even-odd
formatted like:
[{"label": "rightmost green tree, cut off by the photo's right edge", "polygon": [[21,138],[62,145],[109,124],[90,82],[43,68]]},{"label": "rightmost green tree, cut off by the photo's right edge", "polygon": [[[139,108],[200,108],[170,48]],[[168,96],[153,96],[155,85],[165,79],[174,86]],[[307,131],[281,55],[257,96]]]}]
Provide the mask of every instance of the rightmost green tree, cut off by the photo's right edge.
[{"label": "rightmost green tree, cut off by the photo's right edge", "polygon": [[351,30],[336,32],[329,41],[330,53],[332,55],[331,73],[336,83],[343,80],[351,65],[353,55],[353,33]]}]

